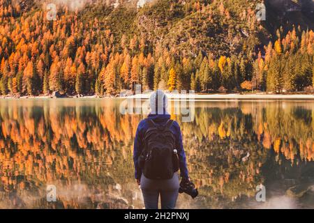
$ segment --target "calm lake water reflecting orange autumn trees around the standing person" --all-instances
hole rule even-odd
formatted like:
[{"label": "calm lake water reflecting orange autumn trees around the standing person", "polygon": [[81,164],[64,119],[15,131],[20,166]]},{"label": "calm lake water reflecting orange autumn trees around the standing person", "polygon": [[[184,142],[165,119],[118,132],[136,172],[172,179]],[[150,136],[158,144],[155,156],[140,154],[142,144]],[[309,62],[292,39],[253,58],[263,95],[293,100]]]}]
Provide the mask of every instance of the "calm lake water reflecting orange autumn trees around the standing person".
[{"label": "calm lake water reflecting orange autumn trees around the standing person", "polygon": [[[0,100],[0,208],[142,208],[132,156],[145,115],[120,103]],[[314,101],[202,101],[192,122],[172,118],[200,192],[177,208],[314,208]]]}]

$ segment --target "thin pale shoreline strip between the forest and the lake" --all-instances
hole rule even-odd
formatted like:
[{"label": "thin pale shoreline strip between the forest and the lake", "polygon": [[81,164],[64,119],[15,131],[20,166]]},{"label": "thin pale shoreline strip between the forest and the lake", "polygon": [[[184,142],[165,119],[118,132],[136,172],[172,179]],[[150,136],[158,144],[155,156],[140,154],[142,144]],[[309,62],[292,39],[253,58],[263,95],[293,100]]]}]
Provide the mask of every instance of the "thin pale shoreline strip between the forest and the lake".
[{"label": "thin pale shoreline strip between the forest and the lake", "polygon": [[[150,98],[149,93],[146,94],[137,94],[137,95],[128,95],[128,96],[98,96],[98,95],[86,95],[82,97],[67,96],[61,98],[53,98],[51,95],[38,95],[38,96],[0,96],[0,99],[105,99],[105,98],[117,98],[117,99],[142,99],[147,100]],[[281,99],[297,99],[297,100],[314,100],[313,94],[239,94],[239,93],[230,93],[230,94],[179,94],[179,93],[166,93],[167,97],[172,100],[281,100]]]}]

